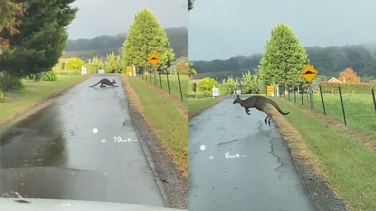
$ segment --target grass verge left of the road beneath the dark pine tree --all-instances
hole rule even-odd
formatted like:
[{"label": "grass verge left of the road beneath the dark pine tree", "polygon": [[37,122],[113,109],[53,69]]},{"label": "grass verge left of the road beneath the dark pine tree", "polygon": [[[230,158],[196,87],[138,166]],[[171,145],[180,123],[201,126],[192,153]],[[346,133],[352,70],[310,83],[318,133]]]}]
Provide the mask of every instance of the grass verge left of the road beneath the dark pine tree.
[{"label": "grass verge left of the road beneath the dark pine tree", "polygon": [[5,102],[0,103],[0,121],[14,115],[16,112],[26,109],[42,99],[58,92],[60,89],[76,83],[82,76],[58,75],[57,81],[34,82],[24,80],[25,89],[21,92],[4,92]]}]

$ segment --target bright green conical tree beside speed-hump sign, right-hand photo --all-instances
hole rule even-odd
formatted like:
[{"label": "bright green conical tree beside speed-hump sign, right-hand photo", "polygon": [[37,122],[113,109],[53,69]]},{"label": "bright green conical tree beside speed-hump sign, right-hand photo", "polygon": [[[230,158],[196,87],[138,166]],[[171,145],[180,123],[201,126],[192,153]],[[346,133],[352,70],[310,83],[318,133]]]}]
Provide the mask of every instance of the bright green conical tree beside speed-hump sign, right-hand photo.
[{"label": "bright green conical tree beside speed-hump sign, right-hand photo", "polygon": [[302,44],[286,24],[280,23],[271,30],[270,40],[260,61],[259,75],[264,85],[304,84],[299,72],[309,63]]}]

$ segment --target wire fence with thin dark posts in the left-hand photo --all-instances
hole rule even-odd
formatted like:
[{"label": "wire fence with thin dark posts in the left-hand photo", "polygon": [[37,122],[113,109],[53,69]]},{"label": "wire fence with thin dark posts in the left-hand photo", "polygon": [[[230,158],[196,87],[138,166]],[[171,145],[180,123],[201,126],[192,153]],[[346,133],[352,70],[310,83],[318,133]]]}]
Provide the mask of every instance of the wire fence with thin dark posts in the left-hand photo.
[{"label": "wire fence with thin dark posts in the left-hand photo", "polygon": [[188,98],[188,75],[176,75],[168,74],[164,71],[156,71],[154,74],[154,69],[152,68],[141,68],[136,67],[136,74],[141,80],[145,80],[154,86],[165,90],[174,98],[187,103]]}]

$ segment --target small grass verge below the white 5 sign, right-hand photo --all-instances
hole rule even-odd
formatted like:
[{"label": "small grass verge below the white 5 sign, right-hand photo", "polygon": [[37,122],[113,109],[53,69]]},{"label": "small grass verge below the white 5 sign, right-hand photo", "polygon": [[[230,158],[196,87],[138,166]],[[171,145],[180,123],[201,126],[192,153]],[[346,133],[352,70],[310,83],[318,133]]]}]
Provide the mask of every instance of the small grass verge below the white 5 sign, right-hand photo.
[{"label": "small grass verge below the white 5 sign, right-hand photo", "polygon": [[189,98],[188,99],[188,119],[199,115],[203,110],[222,101],[223,98]]}]

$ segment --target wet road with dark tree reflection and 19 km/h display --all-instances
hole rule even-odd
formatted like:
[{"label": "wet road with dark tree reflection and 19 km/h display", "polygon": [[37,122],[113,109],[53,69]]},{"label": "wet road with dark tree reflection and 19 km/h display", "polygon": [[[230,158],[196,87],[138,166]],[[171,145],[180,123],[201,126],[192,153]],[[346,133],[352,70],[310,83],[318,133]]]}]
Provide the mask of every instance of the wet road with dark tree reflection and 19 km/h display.
[{"label": "wet road with dark tree reflection and 19 km/h display", "polygon": [[[119,87],[88,87],[103,77]],[[3,131],[1,196],[164,206],[128,109],[121,77],[95,75]]]}]

